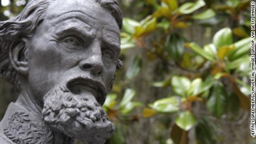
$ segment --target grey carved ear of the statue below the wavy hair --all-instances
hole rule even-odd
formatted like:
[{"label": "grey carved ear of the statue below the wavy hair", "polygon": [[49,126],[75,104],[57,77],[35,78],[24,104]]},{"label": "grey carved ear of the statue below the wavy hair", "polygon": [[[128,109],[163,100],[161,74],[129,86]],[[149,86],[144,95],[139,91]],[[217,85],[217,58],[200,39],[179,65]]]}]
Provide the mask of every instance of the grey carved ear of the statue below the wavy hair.
[{"label": "grey carved ear of the statue below the wavy hair", "polygon": [[25,76],[28,73],[27,52],[27,39],[24,38],[13,43],[12,47],[9,48],[9,58],[11,59],[12,66],[18,73]]}]

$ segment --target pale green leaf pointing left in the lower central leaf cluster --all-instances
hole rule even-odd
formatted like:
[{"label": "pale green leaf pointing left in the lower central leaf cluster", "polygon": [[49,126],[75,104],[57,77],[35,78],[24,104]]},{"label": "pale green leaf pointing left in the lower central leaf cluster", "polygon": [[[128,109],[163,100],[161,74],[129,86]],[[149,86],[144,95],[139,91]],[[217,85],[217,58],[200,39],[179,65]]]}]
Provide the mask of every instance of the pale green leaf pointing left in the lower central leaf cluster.
[{"label": "pale green leaf pointing left in the lower central leaf cluster", "polygon": [[149,106],[157,112],[177,112],[179,110],[179,99],[177,97],[163,98]]}]

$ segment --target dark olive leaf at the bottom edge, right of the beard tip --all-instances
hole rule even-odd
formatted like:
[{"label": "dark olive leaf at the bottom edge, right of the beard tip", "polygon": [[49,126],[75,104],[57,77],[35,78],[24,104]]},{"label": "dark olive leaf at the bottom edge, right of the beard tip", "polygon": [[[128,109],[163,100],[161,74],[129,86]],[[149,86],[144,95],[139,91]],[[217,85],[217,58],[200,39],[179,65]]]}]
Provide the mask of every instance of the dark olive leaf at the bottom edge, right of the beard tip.
[{"label": "dark olive leaf at the bottom edge, right of the beard tip", "polygon": [[115,125],[115,131],[112,137],[109,140],[107,140],[106,143],[126,144],[125,135],[124,135],[124,132],[122,132],[121,125]]}]

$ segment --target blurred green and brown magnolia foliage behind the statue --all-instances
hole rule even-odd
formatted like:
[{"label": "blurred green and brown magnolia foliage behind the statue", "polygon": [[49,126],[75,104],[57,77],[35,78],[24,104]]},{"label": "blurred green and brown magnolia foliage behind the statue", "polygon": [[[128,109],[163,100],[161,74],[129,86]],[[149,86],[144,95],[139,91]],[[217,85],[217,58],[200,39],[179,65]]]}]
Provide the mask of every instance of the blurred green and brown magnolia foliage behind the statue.
[{"label": "blurred green and brown magnolia foliage behind the statue", "polygon": [[[25,0],[0,0],[1,21]],[[109,144],[253,144],[250,1],[120,0],[121,60],[104,110]],[[17,95],[0,80],[0,119]],[[79,143],[79,142],[77,142]]]}]

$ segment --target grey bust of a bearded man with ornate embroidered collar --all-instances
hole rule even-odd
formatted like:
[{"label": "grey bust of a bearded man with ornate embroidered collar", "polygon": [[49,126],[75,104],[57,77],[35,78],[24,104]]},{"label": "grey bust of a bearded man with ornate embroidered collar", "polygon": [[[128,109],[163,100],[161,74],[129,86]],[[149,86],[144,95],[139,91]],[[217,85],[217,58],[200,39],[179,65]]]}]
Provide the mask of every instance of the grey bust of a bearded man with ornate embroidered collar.
[{"label": "grey bust of a bearded man with ornate embroidered collar", "polygon": [[1,144],[105,143],[121,15],[116,0],[31,0],[0,22],[0,75],[19,92],[0,123]]}]

